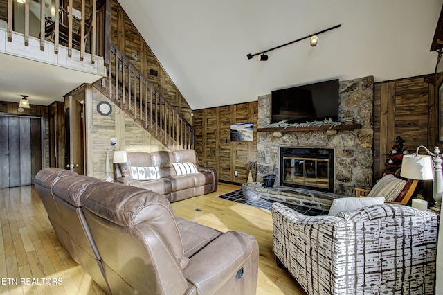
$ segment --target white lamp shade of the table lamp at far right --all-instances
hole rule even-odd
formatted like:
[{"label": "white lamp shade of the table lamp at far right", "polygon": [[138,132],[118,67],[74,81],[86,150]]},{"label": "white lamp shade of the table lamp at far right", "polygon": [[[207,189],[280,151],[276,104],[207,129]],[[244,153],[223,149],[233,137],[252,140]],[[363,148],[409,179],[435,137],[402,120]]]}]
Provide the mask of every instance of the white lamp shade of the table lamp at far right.
[{"label": "white lamp shade of the table lamp at far right", "polygon": [[405,154],[401,163],[401,177],[409,179],[434,179],[434,169],[431,156],[422,154]]}]

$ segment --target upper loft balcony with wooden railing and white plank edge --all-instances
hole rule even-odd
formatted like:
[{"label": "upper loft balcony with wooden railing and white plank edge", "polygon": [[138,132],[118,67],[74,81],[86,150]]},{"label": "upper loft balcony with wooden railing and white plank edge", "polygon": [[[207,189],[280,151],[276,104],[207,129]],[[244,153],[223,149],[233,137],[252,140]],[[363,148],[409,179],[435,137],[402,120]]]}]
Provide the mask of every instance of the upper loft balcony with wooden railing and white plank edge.
[{"label": "upper loft balcony with wooden railing and white plank edge", "polygon": [[[104,31],[104,26],[103,21],[97,21],[105,14],[104,3],[105,0],[0,0],[0,53],[10,55],[1,55],[0,59],[23,57],[80,71],[87,77],[92,75],[87,81],[98,80],[106,75],[104,38],[98,33]],[[33,68],[32,63],[28,66]]]}]

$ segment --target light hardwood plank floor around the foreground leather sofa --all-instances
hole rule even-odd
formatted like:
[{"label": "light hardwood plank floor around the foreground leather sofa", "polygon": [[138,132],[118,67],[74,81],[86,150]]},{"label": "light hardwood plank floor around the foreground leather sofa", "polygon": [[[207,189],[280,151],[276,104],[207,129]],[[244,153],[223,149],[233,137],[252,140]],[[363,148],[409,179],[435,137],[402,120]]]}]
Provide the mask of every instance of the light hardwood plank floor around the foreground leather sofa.
[{"label": "light hardwood plank floor around the foreground leather sofa", "polygon": [[[260,247],[257,294],[304,295],[275,265],[272,216],[252,206],[217,198],[239,186],[172,204],[177,216],[220,231],[255,235]],[[58,242],[34,186],[0,189],[0,294],[105,294]]]}]

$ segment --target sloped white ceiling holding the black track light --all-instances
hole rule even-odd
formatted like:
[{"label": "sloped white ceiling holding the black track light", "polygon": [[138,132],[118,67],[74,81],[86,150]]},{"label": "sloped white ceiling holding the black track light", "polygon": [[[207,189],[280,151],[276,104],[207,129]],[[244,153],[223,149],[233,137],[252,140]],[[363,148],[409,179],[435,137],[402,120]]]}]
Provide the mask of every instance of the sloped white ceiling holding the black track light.
[{"label": "sloped white ceiling holding the black track light", "polygon": [[[257,100],[274,89],[373,75],[434,73],[443,0],[119,0],[192,109]],[[258,53],[341,24],[309,39]]]}]

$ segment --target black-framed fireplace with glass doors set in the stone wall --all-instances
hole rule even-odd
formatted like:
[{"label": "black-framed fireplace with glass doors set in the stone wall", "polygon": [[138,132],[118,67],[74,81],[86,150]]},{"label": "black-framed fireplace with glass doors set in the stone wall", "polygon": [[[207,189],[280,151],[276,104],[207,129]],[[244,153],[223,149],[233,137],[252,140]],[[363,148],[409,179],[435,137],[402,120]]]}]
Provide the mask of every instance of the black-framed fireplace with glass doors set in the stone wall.
[{"label": "black-framed fireplace with glass doors set in the stone wall", "polygon": [[334,150],[280,148],[280,185],[332,192]]}]

